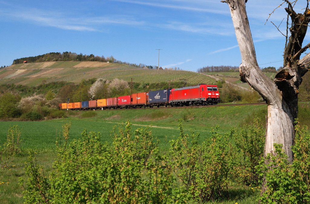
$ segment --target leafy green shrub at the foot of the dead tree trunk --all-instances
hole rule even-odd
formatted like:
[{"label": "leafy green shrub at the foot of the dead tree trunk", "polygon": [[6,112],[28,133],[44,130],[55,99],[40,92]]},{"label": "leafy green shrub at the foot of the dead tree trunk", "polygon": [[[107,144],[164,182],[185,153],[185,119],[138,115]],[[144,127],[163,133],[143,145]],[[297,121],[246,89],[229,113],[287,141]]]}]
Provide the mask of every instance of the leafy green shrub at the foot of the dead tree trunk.
[{"label": "leafy green shrub at the foot of the dead tree trunk", "polygon": [[310,135],[307,128],[295,126],[293,163],[287,160],[282,145],[275,144],[275,153],[268,154],[258,166],[265,175],[266,191],[260,197],[262,203],[309,203],[310,202]]}]

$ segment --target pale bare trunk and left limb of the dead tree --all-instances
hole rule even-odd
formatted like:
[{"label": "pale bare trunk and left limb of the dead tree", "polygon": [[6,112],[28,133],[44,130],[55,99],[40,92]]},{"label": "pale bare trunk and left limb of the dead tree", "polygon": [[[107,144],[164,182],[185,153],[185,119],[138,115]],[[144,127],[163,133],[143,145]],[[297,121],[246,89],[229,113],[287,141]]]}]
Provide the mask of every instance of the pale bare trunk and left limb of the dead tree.
[{"label": "pale bare trunk and left limb of the dead tree", "polygon": [[[286,83],[298,80],[298,76],[290,68],[279,74],[277,83],[270,80],[260,70],[255,54],[250,26],[246,14],[246,0],[226,0],[230,8],[232,22],[241,53],[240,77],[250,84],[268,104],[267,130],[264,156],[274,153],[274,143],[282,144],[288,160],[292,163],[291,146],[294,142],[294,119],[297,117],[298,104],[296,87]],[[281,78],[282,77],[282,78]],[[279,86],[281,88],[279,88]],[[298,88],[298,87],[297,87]],[[287,90],[289,89],[289,90]]]}]

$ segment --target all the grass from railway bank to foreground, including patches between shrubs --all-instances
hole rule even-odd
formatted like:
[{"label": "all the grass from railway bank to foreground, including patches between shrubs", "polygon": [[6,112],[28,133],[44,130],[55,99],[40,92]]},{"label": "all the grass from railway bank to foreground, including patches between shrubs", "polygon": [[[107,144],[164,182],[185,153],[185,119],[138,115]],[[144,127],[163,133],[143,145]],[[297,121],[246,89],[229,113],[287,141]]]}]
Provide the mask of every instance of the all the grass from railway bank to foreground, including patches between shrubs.
[{"label": "all the grass from railway bank to foreground, including patches between shrubs", "polygon": [[[308,103],[300,104],[300,122],[309,125]],[[22,139],[22,154],[12,161],[8,168],[0,168],[0,203],[22,203],[23,188],[18,184],[19,177],[27,179],[24,174],[24,162],[27,151],[34,149],[38,163],[44,166],[46,176],[52,171],[56,157],[55,141],[61,135],[62,125],[71,122],[69,140],[81,138],[84,129],[101,132],[103,142],[112,142],[111,130],[115,125],[122,125],[127,119],[131,121],[132,131],[137,128],[150,127],[154,137],[159,139],[162,153],[169,149],[169,141],[179,136],[178,120],[183,119],[185,133],[190,130],[200,132],[200,140],[210,137],[210,129],[220,126],[220,132],[228,132],[230,127],[250,124],[255,115],[265,120],[267,105],[259,106],[207,106],[188,108],[146,108],[131,110],[71,111],[68,118],[49,121],[2,121],[0,122],[0,144],[6,140],[10,126],[18,125]],[[249,187],[236,186],[233,199],[222,203],[256,203],[259,192],[252,192]]]}]

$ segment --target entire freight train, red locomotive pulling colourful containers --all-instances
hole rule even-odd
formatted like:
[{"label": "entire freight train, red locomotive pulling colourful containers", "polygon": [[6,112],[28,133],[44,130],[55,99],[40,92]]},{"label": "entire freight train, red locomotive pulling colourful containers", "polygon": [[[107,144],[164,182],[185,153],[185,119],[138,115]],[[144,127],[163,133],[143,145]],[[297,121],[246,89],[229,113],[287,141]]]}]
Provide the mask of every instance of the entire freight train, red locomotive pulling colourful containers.
[{"label": "entire freight train, red locomotive pulling colourful containers", "polygon": [[220,101],[216,85],[199,84],[179,89],[162,89],[156,91],[133,93],[128,96],[104,98],[91,101],[60,103],[60,109],[104,110],[116,108],[141,108],[154,106],[190,106],[213,105]]}]

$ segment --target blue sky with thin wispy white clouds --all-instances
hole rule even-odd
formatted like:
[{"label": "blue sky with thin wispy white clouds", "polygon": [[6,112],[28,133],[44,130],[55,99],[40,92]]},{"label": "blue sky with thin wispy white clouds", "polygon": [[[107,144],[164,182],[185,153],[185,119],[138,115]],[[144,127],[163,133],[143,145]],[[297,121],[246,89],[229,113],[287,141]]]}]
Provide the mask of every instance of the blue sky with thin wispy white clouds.
[{"label": "blue sky with thin wispy white clouds", "polygon": [[[261,67],[282,65],[286,18],[281,0],[246,4]],[[300,7],[302,8],[302,6]],[[297,10],[303,12],[302,10]],[[284,30],[286,19],[280,26]],[[71,51],[129,63],[196,71],[241,62],[228,5],[220,0],[0,0],[0,66],[14,59]],[[306,36],[308,43],[309,36]]]}]

